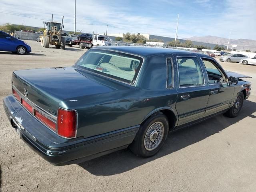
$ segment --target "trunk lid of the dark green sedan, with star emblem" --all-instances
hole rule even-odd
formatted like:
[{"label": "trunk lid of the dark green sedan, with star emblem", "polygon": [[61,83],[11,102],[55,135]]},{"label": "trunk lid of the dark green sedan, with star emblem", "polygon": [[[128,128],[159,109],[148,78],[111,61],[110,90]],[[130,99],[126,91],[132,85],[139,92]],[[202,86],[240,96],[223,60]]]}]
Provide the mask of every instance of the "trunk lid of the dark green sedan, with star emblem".
[{"label": "trunk lid of the dark green sedan, with star emblem", "polygon": [[60,101],[127,88],[73,67],[14,71],[12,84],[34,106],[54,116]]}]

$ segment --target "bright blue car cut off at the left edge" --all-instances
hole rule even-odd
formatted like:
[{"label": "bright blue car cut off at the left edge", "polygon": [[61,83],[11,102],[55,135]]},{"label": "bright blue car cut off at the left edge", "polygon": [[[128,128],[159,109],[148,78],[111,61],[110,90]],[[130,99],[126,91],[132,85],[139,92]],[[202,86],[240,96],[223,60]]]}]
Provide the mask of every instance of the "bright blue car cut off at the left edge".
[{"label": "bright blue car cut off at the left edge", "polygon": [[30,53],[31,47],[26,42],[0,31],[0,51],[10,51],[23,55]]}]

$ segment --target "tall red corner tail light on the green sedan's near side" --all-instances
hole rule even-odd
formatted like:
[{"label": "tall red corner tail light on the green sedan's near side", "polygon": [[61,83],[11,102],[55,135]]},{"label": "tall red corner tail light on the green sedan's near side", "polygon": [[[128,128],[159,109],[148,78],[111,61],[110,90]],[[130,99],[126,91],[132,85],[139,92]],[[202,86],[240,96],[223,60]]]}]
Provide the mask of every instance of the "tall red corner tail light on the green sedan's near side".
[{"label": "tall red corner tail light on the green sedan's near side", "polygon": [[57,133],[65,138],[76,137],[76,111],[58,109]]}]

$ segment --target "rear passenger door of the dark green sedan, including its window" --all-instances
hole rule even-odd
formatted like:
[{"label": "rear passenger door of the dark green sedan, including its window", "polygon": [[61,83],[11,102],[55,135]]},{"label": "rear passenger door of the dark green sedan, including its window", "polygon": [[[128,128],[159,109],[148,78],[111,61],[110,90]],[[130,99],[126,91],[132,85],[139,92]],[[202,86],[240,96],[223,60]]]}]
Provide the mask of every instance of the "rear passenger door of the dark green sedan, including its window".
[{"label": "rear passenger door of the dark green sedan, including its window", "polygon": [[202,118],[209,98],[209,86],[205,82],[204,72],[198,58],[192,54],[176,56],[176,87],[178,98],[178,127],[186,126]]}]

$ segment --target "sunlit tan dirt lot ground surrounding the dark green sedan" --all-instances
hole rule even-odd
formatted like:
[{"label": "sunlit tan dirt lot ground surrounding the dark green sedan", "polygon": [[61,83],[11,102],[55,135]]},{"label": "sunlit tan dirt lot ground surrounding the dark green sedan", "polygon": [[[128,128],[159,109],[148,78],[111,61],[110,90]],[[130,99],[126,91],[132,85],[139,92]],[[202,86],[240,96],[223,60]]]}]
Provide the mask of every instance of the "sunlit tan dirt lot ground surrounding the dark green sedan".
[{"label": "sunlit tan dirt lot ground surrounding the dark green sedan", "polygon": [[[253,192],[256,189],[256,66],[221,62],[225,70],[253,76],[252,95],[240,115],[218,115],[170,134],[151,158],[122,150],[68,166],[53,166],[33,152],[14,131],[3,109],[11,94],[12,71],[71,66],[86,51],[42,48],[32,53],[0,52],[0,191]],[[218,60],[218,57],[216,58]]]}]

